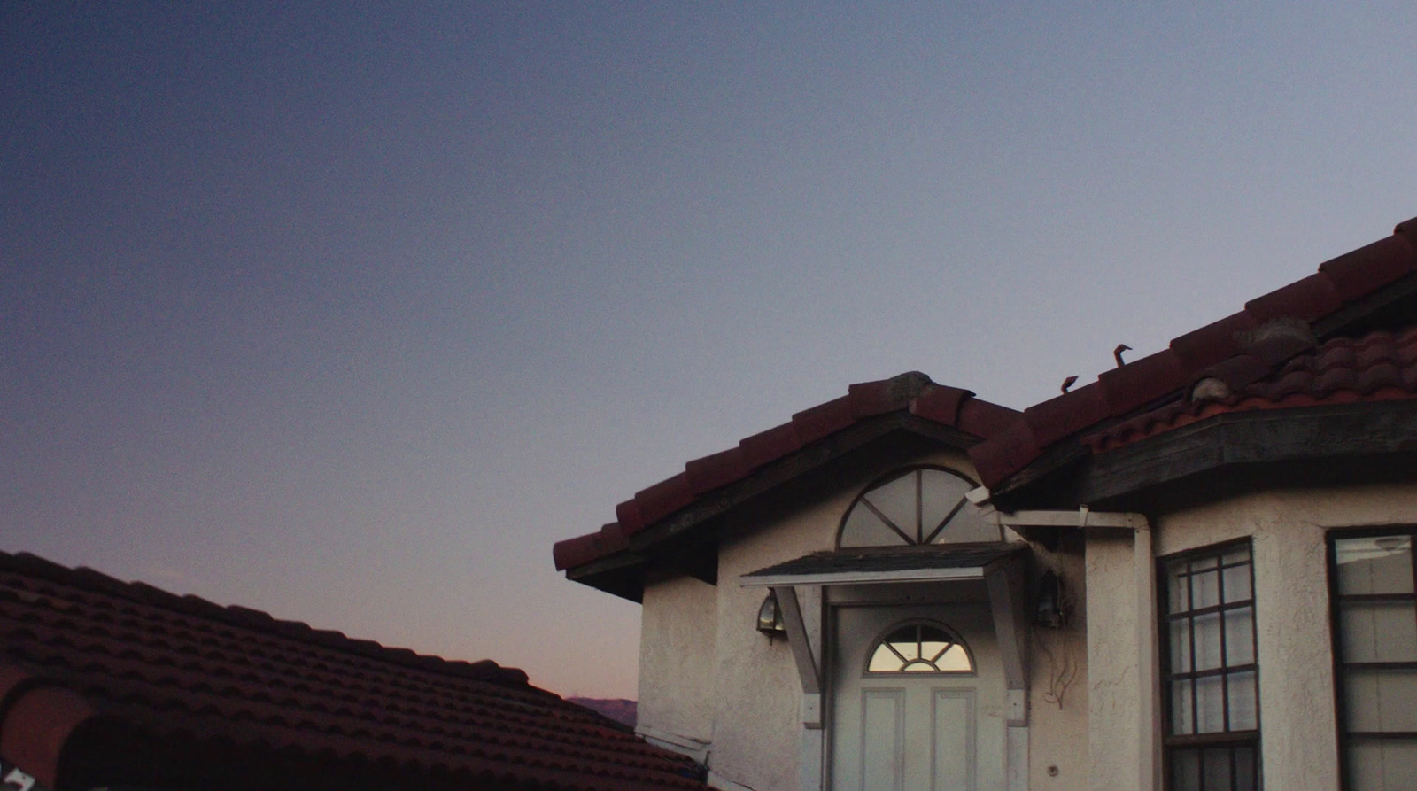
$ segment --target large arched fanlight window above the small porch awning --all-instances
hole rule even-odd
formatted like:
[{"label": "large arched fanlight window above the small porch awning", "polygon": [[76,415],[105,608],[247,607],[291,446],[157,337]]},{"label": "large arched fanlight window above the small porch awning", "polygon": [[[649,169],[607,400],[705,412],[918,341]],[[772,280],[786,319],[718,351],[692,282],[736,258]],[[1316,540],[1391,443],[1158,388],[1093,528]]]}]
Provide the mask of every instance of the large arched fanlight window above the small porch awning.
[{"label": "large arched fanlight window above the small porch awning", "polygon": [[842,519],[837,547],[1003,540],[965,498],[978,486],[952,469],[915,466],[867,488]]}]

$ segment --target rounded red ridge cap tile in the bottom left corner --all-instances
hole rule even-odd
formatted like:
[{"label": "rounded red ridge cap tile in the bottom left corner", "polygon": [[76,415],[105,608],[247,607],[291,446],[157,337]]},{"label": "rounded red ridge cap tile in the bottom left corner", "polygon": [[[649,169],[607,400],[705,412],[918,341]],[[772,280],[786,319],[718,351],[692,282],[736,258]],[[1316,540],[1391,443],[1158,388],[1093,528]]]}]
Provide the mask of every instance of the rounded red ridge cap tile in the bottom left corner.
[{"label": "rounded red ridge cap tile in the bottom left corner", "polygon": [[75,729],[96,712],[82,697],[58,686],[23,692],[0,723],[0,754],[26,768],[40,785],[58,785],[60,756]]}]

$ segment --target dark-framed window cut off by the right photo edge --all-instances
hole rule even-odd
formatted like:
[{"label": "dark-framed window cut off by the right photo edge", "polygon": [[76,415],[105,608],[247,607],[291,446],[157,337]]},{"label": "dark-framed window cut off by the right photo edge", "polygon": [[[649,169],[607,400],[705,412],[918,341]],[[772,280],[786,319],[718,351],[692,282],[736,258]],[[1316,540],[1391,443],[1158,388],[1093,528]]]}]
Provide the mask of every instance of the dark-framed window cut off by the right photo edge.
[{"label": "dark-framed window cut off by the right photo edge", "polygon": [[1332,537],[1345,788],[1417,788],[1413,532]]}]

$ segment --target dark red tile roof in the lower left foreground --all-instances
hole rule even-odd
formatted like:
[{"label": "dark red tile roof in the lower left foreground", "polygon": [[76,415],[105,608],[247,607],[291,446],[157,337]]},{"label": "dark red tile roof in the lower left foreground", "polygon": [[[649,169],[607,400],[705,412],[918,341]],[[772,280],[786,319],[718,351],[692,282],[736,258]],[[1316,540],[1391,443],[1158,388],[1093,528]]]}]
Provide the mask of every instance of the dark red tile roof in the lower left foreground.
[{"label": "dark red tile roof in the lower left foreground", "polygon": [[706,788],[690,760],[521,671],[0,553],[0,756],[54,788],[109,731],[222,746],[241,767],[397,771],[408,788]]}]

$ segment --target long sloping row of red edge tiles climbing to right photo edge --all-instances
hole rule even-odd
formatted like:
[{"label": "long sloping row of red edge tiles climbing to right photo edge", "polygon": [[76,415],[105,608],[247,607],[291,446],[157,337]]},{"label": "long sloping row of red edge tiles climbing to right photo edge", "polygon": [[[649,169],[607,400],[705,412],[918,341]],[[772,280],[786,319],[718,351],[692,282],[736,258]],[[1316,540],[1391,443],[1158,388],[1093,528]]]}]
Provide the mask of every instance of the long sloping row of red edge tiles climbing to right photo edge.
[{"label": "long sloping row of red edge tiles climbing to right photo edge", "polygon": [[996,488],[1058,441],[1110,420],[1127,420],[1139,408],[1175,401],[1200,377],[1255,381],[1274,366],[1312,346],[1274,339],[1241,347],[1246,333],[1271,322],[1316,322],[1359,302],[1374,291],[1417,272],[1417,218],[1397,225],[1393,235],[1319,265],[1316,274],[1251,299],[1244,310],[1186,333],[1169,349],[1101,374],[1095,383],[1071,390],[1023,411],[1023,420],[969,448],[983,483]]}]

